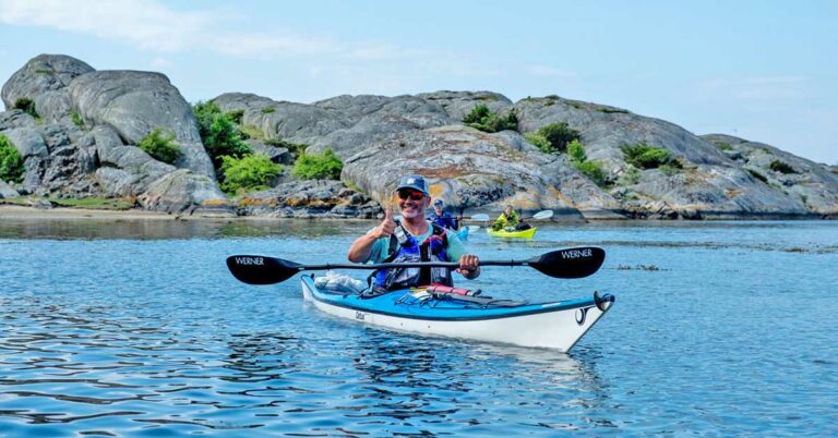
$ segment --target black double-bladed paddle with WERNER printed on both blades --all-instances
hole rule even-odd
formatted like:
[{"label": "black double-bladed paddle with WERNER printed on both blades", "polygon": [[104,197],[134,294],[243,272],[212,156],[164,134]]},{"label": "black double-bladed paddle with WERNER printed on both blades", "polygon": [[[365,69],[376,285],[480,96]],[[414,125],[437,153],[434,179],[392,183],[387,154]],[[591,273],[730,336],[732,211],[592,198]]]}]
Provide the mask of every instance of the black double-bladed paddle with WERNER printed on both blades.
[{"label": "black double-bladed paddle with WERNER printed on both blades", "polygon": [[[606,252],[596,246],[584,246],[552,251],[526,260],[480,260],[480,266],[529,266],[541,273],[555,278],[583,278],[596,272],[606,259]],[[301,265],[282,258],[259,255],[235,255],[227,257],[227,268],[239,281],[248,284],[274,284],[285,281],[303,270],[323,269],[384,269],[384,268],[450,268],[456,269],[456,261],[411,261],[362,264]]]}]

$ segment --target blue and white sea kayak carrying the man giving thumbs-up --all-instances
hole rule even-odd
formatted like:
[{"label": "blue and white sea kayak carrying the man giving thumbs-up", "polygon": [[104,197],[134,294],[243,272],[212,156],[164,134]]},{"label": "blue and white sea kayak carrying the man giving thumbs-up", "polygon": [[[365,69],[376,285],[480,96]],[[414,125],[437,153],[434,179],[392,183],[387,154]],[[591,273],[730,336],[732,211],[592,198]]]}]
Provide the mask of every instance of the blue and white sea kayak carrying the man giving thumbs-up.
[{"label": "blue and white sea kayak carrying the man giving thumbs-up", "polygon": [[[419,293],[417,293],[419,292]],[[318,288],[302,277],[302,293],[319,309],[346,319],[427,336],[568,351],[614,302],[610,294],[528,304],[396,290],[374,297]],[[463,301],[471,300],[471,301]]]}]

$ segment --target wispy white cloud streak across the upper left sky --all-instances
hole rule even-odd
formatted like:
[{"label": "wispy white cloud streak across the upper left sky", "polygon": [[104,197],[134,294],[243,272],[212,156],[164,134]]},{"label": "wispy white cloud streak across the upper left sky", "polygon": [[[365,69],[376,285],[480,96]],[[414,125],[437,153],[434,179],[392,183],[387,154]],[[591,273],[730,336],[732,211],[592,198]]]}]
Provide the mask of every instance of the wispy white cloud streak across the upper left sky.
[{"label": "wispy white cloud streak across the upper left sky", "polygon": [[[330,56],[350,61],[433,59],[427,50],[391,44],[337,42],[288,29],[229,29],[229,11],[175,11],[156,0],[0,0],[0,24],[41,26],[120,40],[157,53],[207,50],[256,60]],[[439,56],[442,63],[447,56]]]}]

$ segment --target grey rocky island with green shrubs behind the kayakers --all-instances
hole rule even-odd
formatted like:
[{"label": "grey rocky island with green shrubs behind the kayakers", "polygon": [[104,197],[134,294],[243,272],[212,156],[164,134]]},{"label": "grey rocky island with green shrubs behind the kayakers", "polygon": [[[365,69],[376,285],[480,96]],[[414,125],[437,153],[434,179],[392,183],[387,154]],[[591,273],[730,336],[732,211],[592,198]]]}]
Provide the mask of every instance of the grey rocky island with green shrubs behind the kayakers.
[{"label": "grey rocky island with green shrubs behind the kayakers", "polygon": [[838,168],[559,96],[227,93],[190,105],[154,72],[29,60],[2,87],[0,204],[374,218],[399,175],[465,214],[567,219],[838,217]]}]

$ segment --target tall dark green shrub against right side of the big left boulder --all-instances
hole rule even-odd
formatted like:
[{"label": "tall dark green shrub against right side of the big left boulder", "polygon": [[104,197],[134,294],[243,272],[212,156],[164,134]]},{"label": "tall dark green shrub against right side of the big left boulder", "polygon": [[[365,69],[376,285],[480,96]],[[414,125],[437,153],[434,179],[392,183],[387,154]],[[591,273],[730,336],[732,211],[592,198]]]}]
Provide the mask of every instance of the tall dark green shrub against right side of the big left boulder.
[{"label": "tall dark green shrub against right side of the big left boulder", "polygon": [[192,114],[195,117],[197,133],[201,135],[204,148],[216,170],[220,169],[224,156],[241,158],[252,153],[247,143],[241,139],[234,115],[223,114],[215,102],[193,105]]}]

